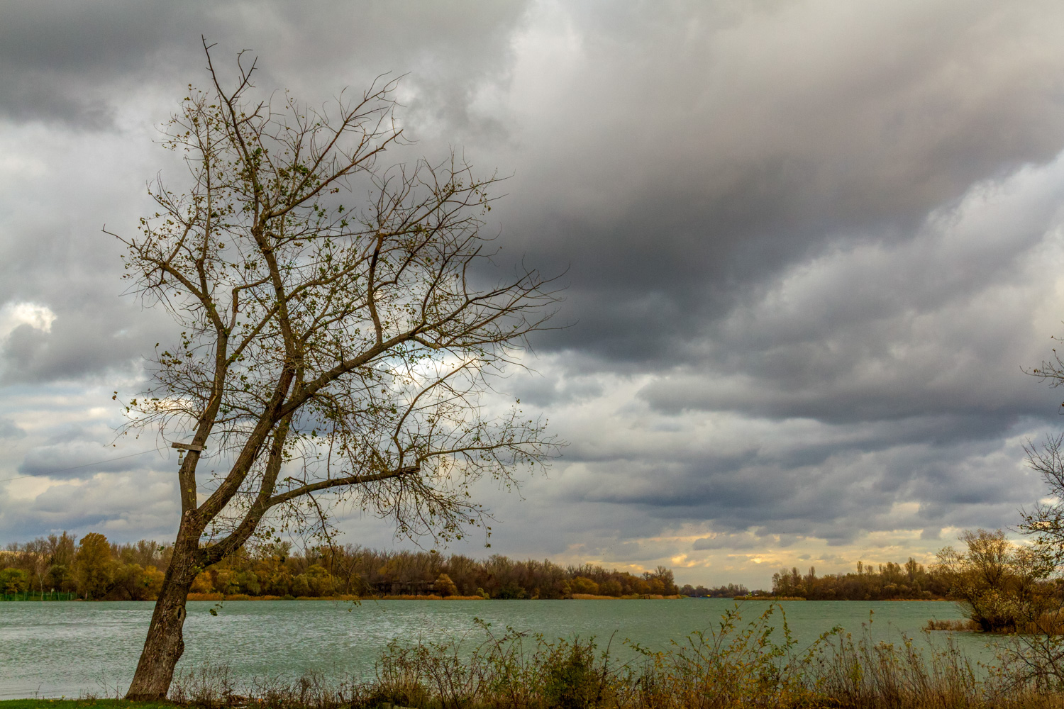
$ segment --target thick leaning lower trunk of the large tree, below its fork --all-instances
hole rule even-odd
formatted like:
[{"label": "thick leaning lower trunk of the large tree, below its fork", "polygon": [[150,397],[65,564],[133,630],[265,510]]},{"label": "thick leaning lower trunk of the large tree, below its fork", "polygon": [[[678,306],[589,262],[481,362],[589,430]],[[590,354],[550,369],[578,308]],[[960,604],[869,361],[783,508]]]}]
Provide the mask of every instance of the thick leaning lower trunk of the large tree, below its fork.
[{"label": "thick leaning lower trunk of the large tree, below its fork", "polygon": [[[148,638],[136,665],[133,681],[126,693],[127,699],[165,699],[173,679],[173,668],[185,652],[182,628],[185,624],[185,601],[196,574],[196,552],[198,539],[188,540],[190,535],[178,533],[173,545],[173,556],[163,578],[163,588],[155,602],[155,612],[151,615]],[[198,535],[197,535],[198,537]]]}]

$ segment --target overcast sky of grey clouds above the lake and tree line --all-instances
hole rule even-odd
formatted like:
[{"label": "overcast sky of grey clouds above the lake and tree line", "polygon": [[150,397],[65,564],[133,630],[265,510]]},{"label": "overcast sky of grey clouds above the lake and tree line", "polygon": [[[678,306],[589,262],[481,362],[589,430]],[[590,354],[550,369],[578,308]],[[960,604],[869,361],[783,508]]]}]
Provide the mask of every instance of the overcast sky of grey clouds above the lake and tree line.
[{"label": "overcast sky of grey clouds above the lake and tree line", "polygon": [[[122,297],[159,125],[227,69],[320,103],[405,74],[421,154],[512,175],[504,253],[568,269],[536,373],[570,441],[453,551],[767,586],[930,561],[1044,494],[1062,391],[1064,4],[22,2],[0,11],[0,542],[172,538],[176,458],[111,448],[172,340]],[[399,159],[399,156],[396,156]],[[9,479],[15,478],[15,479]],[[348,511],[344,541],[395,544]]]}]

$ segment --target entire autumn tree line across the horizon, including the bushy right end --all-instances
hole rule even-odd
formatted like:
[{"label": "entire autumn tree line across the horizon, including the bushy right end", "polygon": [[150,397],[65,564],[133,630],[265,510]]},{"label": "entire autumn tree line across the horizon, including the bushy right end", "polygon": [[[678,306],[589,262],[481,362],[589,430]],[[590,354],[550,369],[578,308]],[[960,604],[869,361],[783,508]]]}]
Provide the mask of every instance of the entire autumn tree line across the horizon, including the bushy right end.
[{"label": "entire autumn tree line across the horizon, including the bushy right end", "polygon": [[[281,542],[240,550],[202,570],[192,592],[199,597],[278,598],[429,594],[484,598],[580,595],[772,596],[809,601],[949,598],[974,609],[970,615],[977,622],[993,617],[999,620],[992,620],[992,625],[1005,626],[1031,614],[1016,610],[1030,605],[1027,596],[1035,592],[1038,597],[1055,595],[1057,585],[1046,580],[1049,567],[1032,562],[1028,558],[1031,552],[1005,540],[1001,531],[965,533],[962,540],[966,552],[946,547],[928,568],[910,557],[903,564],[886,562],[874,567],[858,561],[853,572],[822,576],[813,567],[805,574],[797,568],[781,569],[772,575],[771,591],[752,592],[736,584],[715,588],[687,584],[681,588],[671,570],[665,567],[637,575],[595,564],[563,567],[549,560],[516,561],[498,554],[477,560],[461,554],[446,556],[434,550],[378,551],[355,545],[294,551],[290,543]],[[113,543],[96,533],[85,535],[80,543],[66,531],[11,543],[0,551],[0,593],[55,591],[86,600],[150,601],[159,593],[170,554],[171,547],[166,544],[146,540]],[[986,610],[984,598],[1007,598],[1010,608],[1015,608],[1008,613]],[[1016,598],[1020,601],[1014,603]]]}]

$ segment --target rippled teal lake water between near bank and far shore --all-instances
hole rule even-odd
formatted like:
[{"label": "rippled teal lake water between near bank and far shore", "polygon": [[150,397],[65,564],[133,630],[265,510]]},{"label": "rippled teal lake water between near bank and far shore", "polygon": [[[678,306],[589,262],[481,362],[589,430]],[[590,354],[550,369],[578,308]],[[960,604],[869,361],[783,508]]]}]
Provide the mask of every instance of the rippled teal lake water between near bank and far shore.
[{"label": "rippled teal lake water between near bank and far shore", "polygon": [[[768,604],[741,604],[744,620]],[[783,602],[799,646],[833,626],[859,634],[869,611],[876,639],[918,636],[928,619],[960,618],[949,603]],[[694,630],[709,630],[734,606],[727,600],[683,601],[234,601],[188,604],[185,655],[179,671],[227,663],[238,678],[307,671],[366,677],[388,641],[483,638],[473,619],[493,629],[542,632],[547,638],[595,636],[620,659],[628,639],[664,649]],[[150,603],[0,603],[0,698],[98,695],[129,685],[151,618]],[[987,655],[985,638],[958,634],[962,648]]]}]

